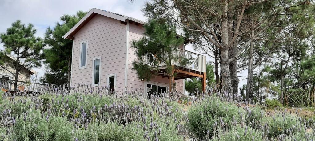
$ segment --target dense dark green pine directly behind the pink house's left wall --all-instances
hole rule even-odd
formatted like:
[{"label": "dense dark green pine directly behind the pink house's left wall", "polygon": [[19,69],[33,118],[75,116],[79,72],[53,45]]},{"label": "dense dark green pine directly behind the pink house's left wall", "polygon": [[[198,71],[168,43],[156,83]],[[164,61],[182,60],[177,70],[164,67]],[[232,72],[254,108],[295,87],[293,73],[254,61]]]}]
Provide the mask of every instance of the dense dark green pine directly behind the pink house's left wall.
[{"label": "dense dark green pine directly behind the pink house's left wall", "polygon": [[53,29],[50,27],[44,35],[44,42],[49,47],[44,50],[47,71],[41,81],[49,84],[70,86],[72,40],[63,39],[65,35],[87,12],[78,11],[76,15],[63,15]]}]

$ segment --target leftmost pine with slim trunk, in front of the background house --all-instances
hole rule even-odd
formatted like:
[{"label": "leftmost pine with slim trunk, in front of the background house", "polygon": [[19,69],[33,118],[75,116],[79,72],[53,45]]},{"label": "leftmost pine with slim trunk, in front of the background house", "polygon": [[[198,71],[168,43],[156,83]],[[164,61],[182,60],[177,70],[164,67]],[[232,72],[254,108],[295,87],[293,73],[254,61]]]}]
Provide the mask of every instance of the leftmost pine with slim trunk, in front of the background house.
[{"label": "leftmost pine with slim trunk, in front of the background house", "polygon": [[[33,24],[22,24],[17,20],[7,29],[6,33],[0,34],[4,51],[0,56],[2,64],[0,67],[7,70],[14,76],[14,91],[17,90],[19,76],[26,69],[41,66],[43,59],[42,49],[43,41],[35,37],[36,29]],[[12,68],[12,70],[8,69]]]}]

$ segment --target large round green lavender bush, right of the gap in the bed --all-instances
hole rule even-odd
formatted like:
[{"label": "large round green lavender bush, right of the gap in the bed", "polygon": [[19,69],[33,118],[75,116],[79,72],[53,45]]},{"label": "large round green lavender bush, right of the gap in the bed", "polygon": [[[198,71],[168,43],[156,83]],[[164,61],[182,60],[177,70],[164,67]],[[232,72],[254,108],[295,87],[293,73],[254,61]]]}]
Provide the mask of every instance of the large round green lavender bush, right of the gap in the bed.
[{"label": "large round green lavender bush, right of the gap in the bed", "polygon": [[[188,130],[197,138],[211,138],[216,133],[215,129],[230,128],[233,122],[239,123],[241,114],[245,116],[245,111],[236,104],[218,97],[207,97],[188,110]],[[208,130],[209,137],[206,134]]]}]

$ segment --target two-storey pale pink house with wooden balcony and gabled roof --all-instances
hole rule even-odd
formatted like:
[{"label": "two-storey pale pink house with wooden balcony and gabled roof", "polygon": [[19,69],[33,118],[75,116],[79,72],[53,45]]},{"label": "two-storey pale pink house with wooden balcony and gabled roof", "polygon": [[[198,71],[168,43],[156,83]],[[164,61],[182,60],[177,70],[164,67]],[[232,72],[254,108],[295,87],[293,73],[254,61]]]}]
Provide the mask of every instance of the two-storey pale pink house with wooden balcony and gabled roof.
[{"label": "two-storey pale pink house with wooden balcony and gabled roof", "polygon": [[[176,91],[184,93],[185,79],[202,78],[206,85],[206,57],[185,50],[186,40],[178,47],[177,55],[188,60],[185,66],[174,69],[176,77],[157,76],[150,81],[139,80],[132,62],[137,60],[131,41],[144,35],[143,21],[93,8],[63,38],[72,40],[71,86],[89,84],[92,87],[108,86],[111,90],[139,89],[162,93],[168,90],[170,80],[176,82]],[[160,69],[163,69],[161,64]],[[152,92],[151,91],[151,92]]]}]

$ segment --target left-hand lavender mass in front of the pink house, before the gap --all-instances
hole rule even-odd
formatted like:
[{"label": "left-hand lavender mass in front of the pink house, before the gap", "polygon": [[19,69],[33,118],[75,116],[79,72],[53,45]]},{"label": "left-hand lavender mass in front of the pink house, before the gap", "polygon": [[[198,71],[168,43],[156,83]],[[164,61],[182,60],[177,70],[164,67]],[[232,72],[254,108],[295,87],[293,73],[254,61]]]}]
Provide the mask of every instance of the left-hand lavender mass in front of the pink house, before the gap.
[{"label": "left-hand lavender mass in front of the pink house, before the gap", "polygon": [[43,87],[38,93],[3,93],[1,140],[182,140],[178,97],[147,99],[143,91],[81,84]]}]

